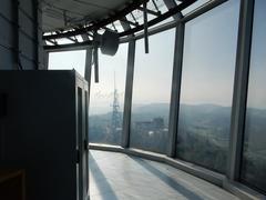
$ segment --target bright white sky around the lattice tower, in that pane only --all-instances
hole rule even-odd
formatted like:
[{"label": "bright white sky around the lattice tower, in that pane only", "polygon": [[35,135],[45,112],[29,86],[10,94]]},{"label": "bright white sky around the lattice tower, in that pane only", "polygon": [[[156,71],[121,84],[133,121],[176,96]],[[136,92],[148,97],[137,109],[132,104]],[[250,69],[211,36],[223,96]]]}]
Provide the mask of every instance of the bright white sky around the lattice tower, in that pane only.
[{"label": "bright white sky around the lattice tower, in that pane only", "polygon": [[123,110],[125,74],[127,60],[127,44],[121,44],[114,57],[99,56],[99,73],[100,82],[94,82],[94,70],[92,70],[91,86],[91,110],[90,113],[101,113],[111,111],[113,103],[114,91],[114,74],[115,84],[119,92],[119,101],[121,110]]}]

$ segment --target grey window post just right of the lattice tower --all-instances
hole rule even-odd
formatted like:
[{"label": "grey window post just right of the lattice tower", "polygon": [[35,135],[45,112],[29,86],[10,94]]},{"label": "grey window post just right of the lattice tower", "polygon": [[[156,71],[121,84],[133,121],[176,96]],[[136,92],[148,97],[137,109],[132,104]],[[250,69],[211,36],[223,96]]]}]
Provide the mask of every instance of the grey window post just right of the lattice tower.
[{"label": "grey window post just right of the lattice tower", "polygon": [[135,63],[135,40],[131,40],[129,42],[129,51],[127,51],[127,69],[126,69],[126,82],[125,82],[125,97],[124,97],[123,131],[122,131],[122,141],[121,141],[121,146],[123,148],[129,148],[129,146],[130,146],[134,63]]}]

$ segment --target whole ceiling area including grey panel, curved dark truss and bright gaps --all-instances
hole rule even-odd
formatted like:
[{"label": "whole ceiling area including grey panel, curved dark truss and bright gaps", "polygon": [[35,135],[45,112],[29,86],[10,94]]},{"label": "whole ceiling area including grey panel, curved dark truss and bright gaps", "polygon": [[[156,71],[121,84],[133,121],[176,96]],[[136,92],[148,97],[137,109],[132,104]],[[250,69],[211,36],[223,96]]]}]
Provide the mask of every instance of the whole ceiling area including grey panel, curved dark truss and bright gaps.
[{"label": "whole ceiling area including grey panel, curved dark truss and bright gaps", "polygon": [[[47,48],[89,46],[101,31],[116,37],[145,32],[161,22],[178,20],[182,10],[197,0],[39,0],[42,7],[42,39]],[[146,20],[145,20],[146,19]],[[89,43],[88,43],[89,42]]]}]

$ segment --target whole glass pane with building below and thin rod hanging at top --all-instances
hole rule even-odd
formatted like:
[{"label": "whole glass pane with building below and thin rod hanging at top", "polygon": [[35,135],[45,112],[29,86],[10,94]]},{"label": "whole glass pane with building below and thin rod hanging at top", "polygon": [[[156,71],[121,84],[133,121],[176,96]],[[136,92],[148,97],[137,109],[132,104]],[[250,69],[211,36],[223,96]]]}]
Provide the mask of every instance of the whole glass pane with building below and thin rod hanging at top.
[{"label": "whole glass pane with building below and thin rod hanging at top", "polygon": [[174,38],[174,30],[150,37],[149,54],[143,39],[136,42],[130,141],[133,148],[165,153]]}]

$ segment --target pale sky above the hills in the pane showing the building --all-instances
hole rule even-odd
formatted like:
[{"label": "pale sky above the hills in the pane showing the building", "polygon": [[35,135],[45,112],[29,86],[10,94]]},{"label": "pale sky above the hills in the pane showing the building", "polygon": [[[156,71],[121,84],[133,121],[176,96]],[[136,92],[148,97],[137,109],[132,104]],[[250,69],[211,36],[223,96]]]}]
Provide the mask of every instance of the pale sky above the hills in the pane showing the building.
[{"label": "pale sky above the hills in the pane showing the building", "polygon": [[133,103],[170,102],[174,58],[175,29],[149,38],[150,53],[144,40],[136,42]]}]

